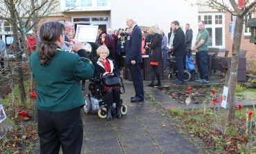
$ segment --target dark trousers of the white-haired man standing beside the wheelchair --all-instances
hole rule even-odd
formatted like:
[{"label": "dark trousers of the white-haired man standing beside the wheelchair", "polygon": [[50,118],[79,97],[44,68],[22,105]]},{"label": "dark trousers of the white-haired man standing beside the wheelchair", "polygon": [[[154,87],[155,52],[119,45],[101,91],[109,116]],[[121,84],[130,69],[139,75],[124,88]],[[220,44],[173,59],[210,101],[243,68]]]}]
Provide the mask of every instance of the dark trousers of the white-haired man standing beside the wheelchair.
[{"label": "dark trousers of the white-haired man standing beside the wheelchair", "polygon": [[135,96],[140,97],[140,99],[144,99],[143,75],[141,74],[140,64],[129,64],[129,69],[132,82],[134,83]]}]

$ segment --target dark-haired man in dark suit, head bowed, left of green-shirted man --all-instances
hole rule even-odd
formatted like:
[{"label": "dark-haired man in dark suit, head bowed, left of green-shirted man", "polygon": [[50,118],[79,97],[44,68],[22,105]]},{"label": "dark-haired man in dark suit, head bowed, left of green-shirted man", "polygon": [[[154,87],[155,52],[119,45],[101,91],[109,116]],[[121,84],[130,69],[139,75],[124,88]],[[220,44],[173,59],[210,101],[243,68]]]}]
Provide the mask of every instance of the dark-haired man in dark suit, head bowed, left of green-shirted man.
[{"label": "dark-haired man in dark suit, head bowed, left of green-shirted man", "polygon": [[172,55],[175,56],[176,67],[178,69],[178,80],[176,84],[183,84],[184,65],[183,57],[186,54],[185,51],[185,34],[179,25],[179,21],[172,21],[172,29],[174,30],[174,41],[172,44]]}]

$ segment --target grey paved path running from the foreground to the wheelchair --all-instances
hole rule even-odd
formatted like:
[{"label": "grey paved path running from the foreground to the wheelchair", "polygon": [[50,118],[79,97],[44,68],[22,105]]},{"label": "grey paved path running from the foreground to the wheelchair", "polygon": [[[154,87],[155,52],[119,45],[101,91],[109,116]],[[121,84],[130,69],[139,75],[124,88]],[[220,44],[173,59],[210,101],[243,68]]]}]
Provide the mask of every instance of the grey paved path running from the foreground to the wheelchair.
[{"label": "grey paved path running from the foreground to the wheelchair", "polygon": [[[144,83],[146,85],[146,83]],[[153,88],[145,88],[145,93]],[[150,91],[152,95],[152,91]],[[154,94],[154,93],[153,93]],[[157,94],[157,93],[156,93]],[[189,139],[179,135],[172,120],[163,117],[161,106],[148,97],[144,103],[131,103],[134,96],[132,82],[125,81],[125,94],[121,95],[128,106],[122,119],[100,119],[97,113],[82,115],[84,119],[84,145],[86,154],[158,154],[201,153]]]}]

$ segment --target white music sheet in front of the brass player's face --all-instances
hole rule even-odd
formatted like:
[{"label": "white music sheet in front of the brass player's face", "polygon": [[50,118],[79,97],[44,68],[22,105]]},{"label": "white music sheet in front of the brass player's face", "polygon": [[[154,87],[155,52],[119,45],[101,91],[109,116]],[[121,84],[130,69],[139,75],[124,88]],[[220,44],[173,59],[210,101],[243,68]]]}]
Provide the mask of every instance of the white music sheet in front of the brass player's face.
[{"label": "white music sheet in front of the brass player's face", "polygon": [[75,39],[83,42],[95,42],[99,26],[77,25]]}]

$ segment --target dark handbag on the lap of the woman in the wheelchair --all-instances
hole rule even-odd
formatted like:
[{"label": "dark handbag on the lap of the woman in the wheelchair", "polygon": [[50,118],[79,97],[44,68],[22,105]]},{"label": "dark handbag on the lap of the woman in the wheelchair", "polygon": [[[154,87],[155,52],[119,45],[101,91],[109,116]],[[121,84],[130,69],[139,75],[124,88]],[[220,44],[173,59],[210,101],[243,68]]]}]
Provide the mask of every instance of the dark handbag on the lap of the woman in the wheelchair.
[{"label": "dark handbag on the lap of the woman in the wheelchair", "polygon": [[122,81],[119,75],[104,75],[102,83],[104,86],[121,86]]}]

